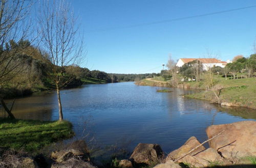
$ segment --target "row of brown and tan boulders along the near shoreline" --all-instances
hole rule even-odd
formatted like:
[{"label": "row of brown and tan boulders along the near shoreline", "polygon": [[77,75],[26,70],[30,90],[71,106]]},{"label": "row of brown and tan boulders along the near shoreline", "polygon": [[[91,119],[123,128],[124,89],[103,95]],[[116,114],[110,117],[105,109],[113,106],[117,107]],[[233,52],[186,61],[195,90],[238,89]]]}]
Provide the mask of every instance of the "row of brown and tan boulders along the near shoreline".
[{"label": "row of brown and tan boulders along the near shoreline", "polygon": [[[256,121],[211,125],[206,129],[209,144],[206,149],[195,136],[183,146],[164,155],[158,144],[140,143],[129,158],[115,160],[110,167],[255,167]],[[105,167],[90,157],[84,141],[76,141],[50,156],[29,157],[15,151],[1,149],[1,167]]]}]

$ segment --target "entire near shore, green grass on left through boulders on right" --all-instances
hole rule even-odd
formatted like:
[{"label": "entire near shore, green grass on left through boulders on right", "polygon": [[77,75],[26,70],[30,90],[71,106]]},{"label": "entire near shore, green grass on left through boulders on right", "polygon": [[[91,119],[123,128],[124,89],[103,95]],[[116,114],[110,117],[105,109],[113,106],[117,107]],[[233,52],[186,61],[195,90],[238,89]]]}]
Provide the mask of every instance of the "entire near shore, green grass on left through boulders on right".
[{"label": "entire near shore, green grass on left through boulders on right", "polygon": [[[0,120],[0,146],[11,136],[7,148],[1,147],[1,167],[255,167],[256,148],[253,141],[255,121],[211,125],[206,128],[208,139],[203,143],[191,136],[180,148],[164,153],[158,144],[139,143],[132,153],[115,150],[104,159],[92,152],[83,140],[47,149],[51,143],[72,137],[72,125],[67,121]],[[247,131],[244,131],[246,128]],[[22,131],[20,131],[22,130]],[[250,135],[250,136],[249,136]],[[235,141],[234,141],[235,139]],[[203,145],[209,144],[206,149]],[[232,144],[232,145],[226,145]],[[44,148],[44,149],[42,149]],[[100,150],[100,149],[98,149]],[[108,150],[108,149],[105,149]],[[236,153],[236,155],[233,155]],[[103,159],[103,160],[102,160]]]}]

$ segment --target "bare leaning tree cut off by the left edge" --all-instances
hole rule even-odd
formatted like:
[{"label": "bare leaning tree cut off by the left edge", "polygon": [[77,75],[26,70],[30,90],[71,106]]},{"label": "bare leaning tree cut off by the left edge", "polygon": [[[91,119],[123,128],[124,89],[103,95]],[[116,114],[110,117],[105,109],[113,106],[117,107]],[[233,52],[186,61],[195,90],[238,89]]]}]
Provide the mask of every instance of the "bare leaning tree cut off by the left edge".
[{"label": "bare leaning tree cut off by the left edge", "polygon": [[[0,1],[0,89],[9,85],[8,82],[24,70],[20,66],[23,63],[20,57],[29,46],[27,39],[32,37],[31,23],[28,22],[31,6],[32,0]],[[1,104],[9,117],[14,119],[3,98],[4,95],[0,98]]]}]

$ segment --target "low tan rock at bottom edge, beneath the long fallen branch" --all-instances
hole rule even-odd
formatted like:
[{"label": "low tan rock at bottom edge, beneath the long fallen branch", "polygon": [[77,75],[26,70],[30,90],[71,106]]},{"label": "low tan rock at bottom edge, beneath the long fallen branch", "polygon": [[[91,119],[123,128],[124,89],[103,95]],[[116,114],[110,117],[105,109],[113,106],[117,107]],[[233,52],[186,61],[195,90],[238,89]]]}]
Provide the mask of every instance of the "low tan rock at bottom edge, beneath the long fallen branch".
[{"label": "low tan rock at bottom edge, beneath the long fallen branch", "polygon": [[[182,159],[178,160],[179,163],[190,164],[194,167],[207,167],[209,162],[199,158],[197,156],[186,155]],[[189,166],[190,167],[190,166]]]}]

